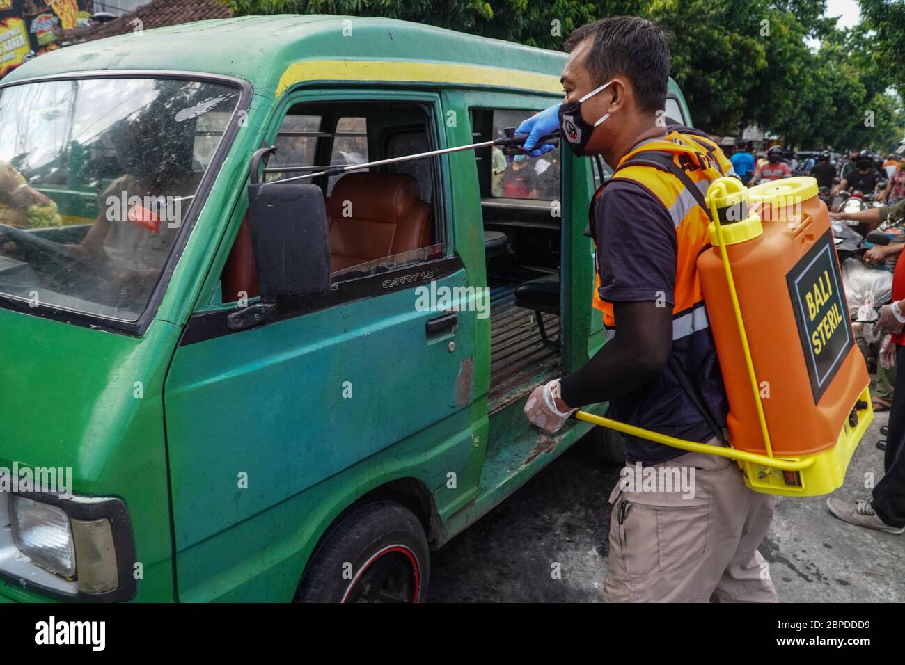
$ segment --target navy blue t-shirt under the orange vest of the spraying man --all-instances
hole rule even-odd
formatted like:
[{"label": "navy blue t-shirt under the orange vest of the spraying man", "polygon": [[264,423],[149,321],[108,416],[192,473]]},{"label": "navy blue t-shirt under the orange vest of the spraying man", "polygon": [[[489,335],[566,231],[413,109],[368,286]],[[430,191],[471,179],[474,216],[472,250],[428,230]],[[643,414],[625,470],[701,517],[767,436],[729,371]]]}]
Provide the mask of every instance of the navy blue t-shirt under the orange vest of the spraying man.
[{"label": "navy blue t-shirt under the orange vest of the spraying man", "polygon": [[[660,299],[674,309],[676,229],[670,214],[650,190],[624,180],[607,184],[595,202],[594,230],[602,299]],[[674,313],[672,324],[672,356],[710,405],[719,427],[724,427],[728,401],[706,309],[700,305]],[[618,329],[618,320],[615,325]],[[707,442],[714,436],[705,416],[668,365],[647,384],[614,399],[610,412],[615,420],[681,439]],[[683,453],[660,443],[626,437],[630,462],[653,464]]]}]

